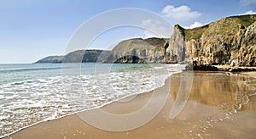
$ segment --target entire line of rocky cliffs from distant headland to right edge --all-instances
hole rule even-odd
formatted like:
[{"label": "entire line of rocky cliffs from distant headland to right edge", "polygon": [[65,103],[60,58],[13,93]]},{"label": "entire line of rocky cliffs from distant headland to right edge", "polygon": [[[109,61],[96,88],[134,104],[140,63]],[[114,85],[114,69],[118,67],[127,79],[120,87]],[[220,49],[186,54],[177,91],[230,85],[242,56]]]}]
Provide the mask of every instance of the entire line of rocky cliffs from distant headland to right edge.
[{"label": "entire line of rocky cliffs from distant headland to right edge", "polygon": [[[110,51],[79,50],[37,63],[186,63],[193,69],[212,65],[256,66],[256,14],[220,19],[194,29],[174,26],[170,39],[135,38]],[[191,69],[191,66],[190,66]]]}]

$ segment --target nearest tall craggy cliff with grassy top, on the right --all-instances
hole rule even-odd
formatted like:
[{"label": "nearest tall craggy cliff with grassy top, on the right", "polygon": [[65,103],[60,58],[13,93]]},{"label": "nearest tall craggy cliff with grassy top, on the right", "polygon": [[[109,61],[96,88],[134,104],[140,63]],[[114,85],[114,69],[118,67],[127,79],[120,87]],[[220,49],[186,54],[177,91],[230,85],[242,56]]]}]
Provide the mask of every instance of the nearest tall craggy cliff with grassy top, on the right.
[{"label": "nearest tall craggy cliff with grassy top, on the right", "polygon": [[228,17],[195,29],[175,25],[167,54],[194,65],[256,66],[256,14]]}]

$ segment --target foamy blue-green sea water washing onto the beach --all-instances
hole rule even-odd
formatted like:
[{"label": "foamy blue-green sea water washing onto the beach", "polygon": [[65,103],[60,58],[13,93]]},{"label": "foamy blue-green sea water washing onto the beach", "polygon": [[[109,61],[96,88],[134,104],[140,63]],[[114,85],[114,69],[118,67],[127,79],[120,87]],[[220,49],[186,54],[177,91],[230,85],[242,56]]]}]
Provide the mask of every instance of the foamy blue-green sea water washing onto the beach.
[{"label": "foamy blue-green sea water washing onto the beach", "polygon": [[181,64],[0,64],[0,136],[163,86]]}]

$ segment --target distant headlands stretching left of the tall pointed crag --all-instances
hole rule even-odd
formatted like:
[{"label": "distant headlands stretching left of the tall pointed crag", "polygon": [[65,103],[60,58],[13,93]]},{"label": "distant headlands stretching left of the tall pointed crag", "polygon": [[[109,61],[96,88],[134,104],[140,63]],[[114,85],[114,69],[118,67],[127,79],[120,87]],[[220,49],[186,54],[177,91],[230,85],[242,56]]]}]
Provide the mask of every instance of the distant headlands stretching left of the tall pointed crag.
[{"label": "distant headlands stretching left of the tall pointed crag", "polygon": [[65,56],[49,56],[36,63],[166,63],[165,50],[169,39],[134,38],[119,42],[111,51],[78,50]]}]

